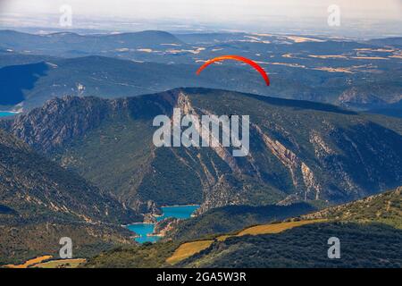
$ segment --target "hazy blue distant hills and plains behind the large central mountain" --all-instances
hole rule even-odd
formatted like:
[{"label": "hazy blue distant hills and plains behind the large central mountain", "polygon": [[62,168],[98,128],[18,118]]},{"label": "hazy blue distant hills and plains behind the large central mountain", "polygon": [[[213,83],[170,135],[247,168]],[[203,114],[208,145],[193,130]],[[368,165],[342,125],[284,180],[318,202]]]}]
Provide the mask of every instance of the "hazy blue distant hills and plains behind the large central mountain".
[{"label": "hazy blue distant hills and plains behind the large central mountain", "polygon": [[[31,35],[0,30],[0,39],[1,91],[5,95],[0,105],[22,103],[25,110],[63,95],[126,97],[204,87],[402,114],[400,38],[358,41],[247,33],[172,35],[163,31]],[[219,55],[255,60],[270,74],[271,88],[241,63],[225,62],[196,76],[202,63]]]}]

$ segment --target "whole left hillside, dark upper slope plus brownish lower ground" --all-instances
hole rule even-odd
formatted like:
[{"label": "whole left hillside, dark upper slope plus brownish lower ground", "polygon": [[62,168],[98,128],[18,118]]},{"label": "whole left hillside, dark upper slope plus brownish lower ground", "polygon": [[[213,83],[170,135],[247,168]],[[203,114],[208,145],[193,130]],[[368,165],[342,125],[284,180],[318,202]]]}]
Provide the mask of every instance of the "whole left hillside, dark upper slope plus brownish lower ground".
[{"label": "whole left hillside, dark upper slope plus brownish lower ground", "polygon": [[75,256],[130,244],[120,225],[139,220],[115,198],[0,130],[0,265],[56,257],[66,236]]}]

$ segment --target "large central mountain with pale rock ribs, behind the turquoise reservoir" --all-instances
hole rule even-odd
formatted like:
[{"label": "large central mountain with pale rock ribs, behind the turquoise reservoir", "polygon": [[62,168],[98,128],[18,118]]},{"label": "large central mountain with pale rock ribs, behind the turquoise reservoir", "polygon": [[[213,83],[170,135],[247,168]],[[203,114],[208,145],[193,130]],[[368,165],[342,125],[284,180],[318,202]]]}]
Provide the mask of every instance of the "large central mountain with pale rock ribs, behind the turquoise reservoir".
[{"label": "large central mountain with pale rock ribs, behind the turquoise reservoir", "polygon": [[[250,152],[155,147],[156,115],[250,116]],[[9,130],[126,206],[345,202],[402,184],[402,136],[331,105],[180,88],[116,100],[64,97],[18,117]],[[385,127],[387,126],[387,127]]]}]

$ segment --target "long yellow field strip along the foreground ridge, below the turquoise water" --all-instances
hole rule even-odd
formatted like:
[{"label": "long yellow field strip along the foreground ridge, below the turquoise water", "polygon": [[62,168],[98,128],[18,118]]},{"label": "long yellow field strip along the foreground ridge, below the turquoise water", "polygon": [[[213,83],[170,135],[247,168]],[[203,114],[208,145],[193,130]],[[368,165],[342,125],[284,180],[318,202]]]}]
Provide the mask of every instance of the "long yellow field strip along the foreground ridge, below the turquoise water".
[{"label": "long yellow field strip along the foreground ridge, below the turquoise water", "polygon": [[[289,222],[289,223],[271,223],[271,224],[256,225],[256,226],[249,227],[249,228],[245,229],[244,231],[240,231],[236,235],[222,235],[222,236],[216,238],[216,240],[224,241],[230,237],[243,236],[243,235],[280,233],[281,231],[286,231],[286,230],[292,229],[297,226],[302,226],[302,225],[306,225],[306,224],[310,224],[310,223],[322,223],[325,221],[326,220],[321,219],[321,220],[299,221],[299,222]],[[188,257],[192,257],[193,255],[197,254],[198,252],[204,250],[205,248],[209,248],[213,242],[214,242],[214,240],[198,240],[198,241],[184,243],[184,244],[180,245],[180,247],[174,251],[172,257],[169,257],[166,259],[166,262],[171,265],[177,264],[178,262],[180,262]]]}]

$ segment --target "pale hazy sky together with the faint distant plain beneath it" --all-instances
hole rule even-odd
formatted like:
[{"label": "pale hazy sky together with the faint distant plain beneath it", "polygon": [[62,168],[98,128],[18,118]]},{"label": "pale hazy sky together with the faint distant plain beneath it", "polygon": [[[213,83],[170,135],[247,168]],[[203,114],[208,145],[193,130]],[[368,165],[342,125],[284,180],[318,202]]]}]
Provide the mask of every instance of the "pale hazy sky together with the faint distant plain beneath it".
[{"label": "pale hazy sky together with the faint distant plain beneath it", "polygon": [[[70,29],[241,30],[322,33],[333,36],[402,36],[402,0],[0,0],[2,27],[57,29],[60,7],[72,8]],[[338,4],[340,27],[329,27]]]}]

